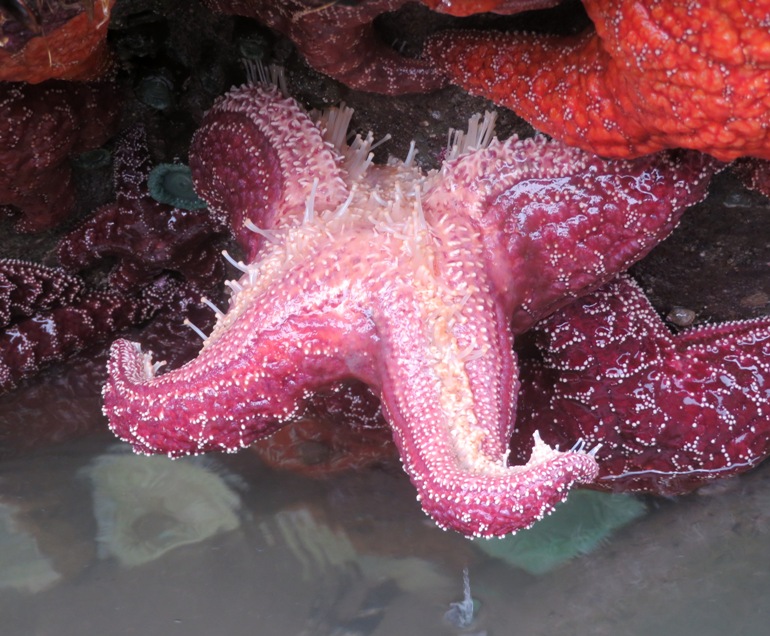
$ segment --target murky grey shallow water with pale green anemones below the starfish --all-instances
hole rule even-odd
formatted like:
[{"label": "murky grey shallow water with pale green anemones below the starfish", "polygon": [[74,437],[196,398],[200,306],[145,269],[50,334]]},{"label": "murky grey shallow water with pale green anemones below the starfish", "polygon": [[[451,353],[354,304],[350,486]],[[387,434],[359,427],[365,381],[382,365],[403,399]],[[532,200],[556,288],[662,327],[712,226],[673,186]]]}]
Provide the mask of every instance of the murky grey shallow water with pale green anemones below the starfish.
[{"label": "murky grey shallow water with pale green anemones below the starfish", "polygon": [[[767,633],[767,469],[648,502],[533,575],[436,529],[397,466],[311,479],[248,451],[137,457],[96,396],[60,393],[0,400],[3,636]],[[464,568],[462,627],[445,614]]]}]

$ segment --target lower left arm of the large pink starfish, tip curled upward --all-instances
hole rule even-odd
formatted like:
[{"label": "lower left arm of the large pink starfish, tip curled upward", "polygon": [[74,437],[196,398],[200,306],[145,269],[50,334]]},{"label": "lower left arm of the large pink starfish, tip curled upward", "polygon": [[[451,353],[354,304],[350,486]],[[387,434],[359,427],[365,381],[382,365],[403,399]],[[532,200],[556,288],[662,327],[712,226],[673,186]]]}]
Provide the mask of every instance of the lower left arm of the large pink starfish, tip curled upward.
[{"label": "lower left arm of the large pink starfish, tip curled upward", "polygon": [[179,369],[156,376],[161,365],[138,345],[113,344],[104,389],[113,431],[144,453],[236,451],[296,419],[316,389],[371,382],[371,321],[308,269],[246,273],[201,353]]}]

